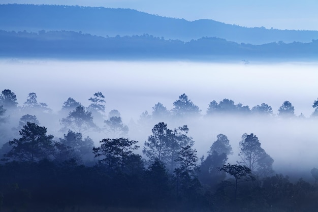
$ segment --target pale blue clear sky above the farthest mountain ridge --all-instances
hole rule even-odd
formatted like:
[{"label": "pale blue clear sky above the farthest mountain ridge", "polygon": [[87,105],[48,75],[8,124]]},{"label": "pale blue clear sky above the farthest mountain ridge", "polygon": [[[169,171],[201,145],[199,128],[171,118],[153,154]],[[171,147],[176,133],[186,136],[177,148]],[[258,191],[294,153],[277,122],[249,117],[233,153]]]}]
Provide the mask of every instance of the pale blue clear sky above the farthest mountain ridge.
[{"label": "pale blue clear sky above the farthest mountain ridge", "polygon": [[55,4],[130,8],[189,21],[213,19],[247,27],[318,30],[316,0],[2,0],[1,4]]}]

